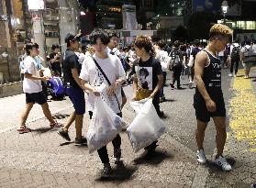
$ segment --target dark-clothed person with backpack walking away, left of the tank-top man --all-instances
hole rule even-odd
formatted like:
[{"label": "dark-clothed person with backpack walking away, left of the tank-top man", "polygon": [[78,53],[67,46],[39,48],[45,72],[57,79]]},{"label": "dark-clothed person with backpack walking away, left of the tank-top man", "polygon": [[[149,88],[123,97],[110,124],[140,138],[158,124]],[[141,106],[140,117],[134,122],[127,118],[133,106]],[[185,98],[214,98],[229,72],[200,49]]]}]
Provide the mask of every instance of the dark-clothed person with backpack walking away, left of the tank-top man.
[{"label": "dark-clothed person with backpack walking away, left of the tank-top man", "polygon": [[173,83],[170,83],[171,87],[174,88],[174,83],[177,81],[177,89],[181,89],[181,73],[183,71],[183,55],[180,50],[180,41],[176,40],[173,44],[173,50],[170,55],[172,58],[173,67]]}]

